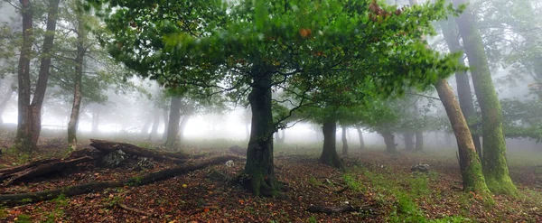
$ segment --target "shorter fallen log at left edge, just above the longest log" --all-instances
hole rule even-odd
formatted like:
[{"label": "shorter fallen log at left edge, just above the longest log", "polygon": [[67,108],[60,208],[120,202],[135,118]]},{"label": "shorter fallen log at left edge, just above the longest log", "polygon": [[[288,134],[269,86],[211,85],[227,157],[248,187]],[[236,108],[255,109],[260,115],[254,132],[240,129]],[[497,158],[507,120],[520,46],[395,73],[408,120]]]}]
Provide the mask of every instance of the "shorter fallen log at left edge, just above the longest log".
[{"label": "shorter fallen log at left edge, just above the longest log", "polygon": [[19,172],[12,172],[9,174],[1,175],[0,178],[2,180],[0,181],[5,181],[6,179],[9,179],[4,183],[5,186],[8,186],[15,181],[28,181],[35,177],[41,177],[47,174],[51,174],[53,172],[61,172],[68,168],[75,167],[79,163],[85,163],[92,160],[94,159],[90,158],[89,156],[84,156],[72,160],[57,160],[51,163],[43,163],[33,166],[31,168],[23,169]]}]

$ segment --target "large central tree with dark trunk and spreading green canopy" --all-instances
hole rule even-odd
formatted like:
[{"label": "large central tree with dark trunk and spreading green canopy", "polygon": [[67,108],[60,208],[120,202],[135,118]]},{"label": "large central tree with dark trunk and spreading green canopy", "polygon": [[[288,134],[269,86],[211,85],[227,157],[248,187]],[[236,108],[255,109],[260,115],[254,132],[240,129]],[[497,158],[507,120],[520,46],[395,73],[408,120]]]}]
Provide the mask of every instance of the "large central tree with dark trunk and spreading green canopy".
[{"label": "large central tree with dark trunk and spreading green canopy", "polygon": [[[376,2],[345,7],[340,1],[242,1],[229,5],[229,14],[214,1],[108,6],[120,6],[106,20],[114,35],[108,49],[117,60],[167,88],[248,98],[252,120],[245,173],[257,195],[278,189],[272,88],[303,96],[317,91],[322,79],[338,79],[368,83],[368,94],[390,95],[455,70],[453,56],[442,57],[417,41],[430,21],[444,16],[443,1],[404,12]],[[415,15],[417,21],[407,19]],[[299,102],[295,107],[304,104]]]}]

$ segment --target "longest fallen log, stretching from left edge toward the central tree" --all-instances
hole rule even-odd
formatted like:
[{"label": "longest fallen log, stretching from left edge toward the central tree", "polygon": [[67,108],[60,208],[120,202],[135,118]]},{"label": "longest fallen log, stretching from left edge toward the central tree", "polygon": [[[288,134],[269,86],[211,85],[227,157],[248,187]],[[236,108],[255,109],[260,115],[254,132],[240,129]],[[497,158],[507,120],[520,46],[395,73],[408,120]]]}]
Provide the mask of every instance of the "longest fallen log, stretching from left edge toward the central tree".
[{"label": "longest fallen log, stretching from left edge toward the central tree", "polygon": [[0,195],[0,205],[9,207],[22,205],[26,203],[34,203],[43,200],[53,200],[58,198],[61,194],[66,197],[71,197],[79,194],[85,194],[89,192],[97,192],[105,190],[107,188],[117,188],[121,186],[140,186],[150,184],[155,181],[164,181],[173,178],[178,175],[185,174],[187,172],[193,172],[201,170],[210,165],[216,165],[220,163],[226,163],[229,160],[241,160],[238,156],[219,156],[210,159],[205,162],[195,164],[182,164],[172,169],[167,169],[160,172],[152,172],[144,175],[143,177],[134,177],[122,181],[103,181],[103,182],[91,182],[86,184],[80,184],[76,186],[65,187],[58,190],[45,190],[31,193],[20,194],[2,194]]}]

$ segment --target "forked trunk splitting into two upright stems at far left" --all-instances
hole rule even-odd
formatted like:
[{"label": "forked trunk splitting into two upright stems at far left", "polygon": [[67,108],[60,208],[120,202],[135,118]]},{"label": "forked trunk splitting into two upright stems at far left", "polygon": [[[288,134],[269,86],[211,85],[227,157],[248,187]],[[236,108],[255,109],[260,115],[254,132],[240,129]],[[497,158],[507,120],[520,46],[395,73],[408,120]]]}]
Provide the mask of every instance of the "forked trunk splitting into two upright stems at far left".
[{"label": "forked trunk splitting into two upright stems at far left", "polygon": [[60,0],[49,1],[47,28],[42,45],[42,59],[38,72],[38,82],[30,103],[30,52],[32,51],[33,13],[30,0],[21,0],[23,15],[23,48],[19,60],[19,122],[15,147],[23,152],[37,149],[38,138],[42,130],[42,105],[51,68],[51,50],[56,31],[57,14]]}]

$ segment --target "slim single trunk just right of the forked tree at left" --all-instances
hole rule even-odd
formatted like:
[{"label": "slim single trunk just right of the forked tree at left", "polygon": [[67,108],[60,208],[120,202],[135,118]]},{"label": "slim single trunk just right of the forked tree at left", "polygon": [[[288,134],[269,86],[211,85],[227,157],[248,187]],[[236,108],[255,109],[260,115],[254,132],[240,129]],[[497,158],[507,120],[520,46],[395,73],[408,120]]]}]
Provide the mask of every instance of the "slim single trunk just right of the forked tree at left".
[{"label": "slim single trunk just right of the forked tree at left", "polygon": [[[56,0],[55,0],[56,1]],[[85,59],[85,23],[81,12],[77,12],[78,28],[77,28],[77,56],[75,58],[75,81],[73,87],[73,104],[71,107],[70,122],[68,122],[68,144],[71,150],[77,149],[77,128],[79,125],[79,113],[81,107],[81,81],[83,79],[83,62]]]}]

